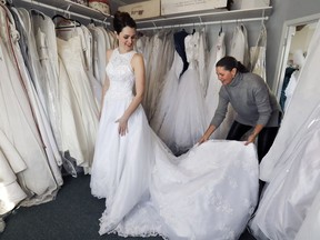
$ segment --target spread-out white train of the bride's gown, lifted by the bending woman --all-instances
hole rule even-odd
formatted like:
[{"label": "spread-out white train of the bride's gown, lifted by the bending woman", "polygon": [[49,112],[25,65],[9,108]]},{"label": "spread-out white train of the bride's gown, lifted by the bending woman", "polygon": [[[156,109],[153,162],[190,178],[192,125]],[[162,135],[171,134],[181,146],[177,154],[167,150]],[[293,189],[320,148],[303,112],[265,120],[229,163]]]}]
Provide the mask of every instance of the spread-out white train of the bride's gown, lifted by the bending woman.
[{"label": "spread-out white train of the bride's gown, lifted by the bending woman", "polygon": [[[112,222],[107,206],[100,219],[100,234],[159,234],[173,240],[238,239],[258,198],[253,144],[212,140],[177,158],[156,134],[152,136],[156,158],[149,171],[152,172],[150,198],[144,194],[111,231],[106,223]],[[142,169],[130,176],[130,180],[139,182],[136,179],[141,179],[141,172]],[[132,192],[137,190],[136,187]],[[124,193],[121,189],[118,191]],[[117,204],[132,207],[132,199],[119,200]]]}]

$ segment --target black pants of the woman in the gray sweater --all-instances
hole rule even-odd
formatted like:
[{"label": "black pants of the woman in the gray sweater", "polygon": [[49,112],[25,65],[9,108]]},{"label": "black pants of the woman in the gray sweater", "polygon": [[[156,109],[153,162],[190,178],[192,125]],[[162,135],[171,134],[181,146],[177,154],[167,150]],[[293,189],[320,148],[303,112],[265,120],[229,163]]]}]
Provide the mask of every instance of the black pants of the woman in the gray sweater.
[{"label": "black pants of the woman in the gray sweater", "polygon": [[[229,133],[227,136],[227,140],[241,140],[243,134],[248,132],[250,129],[252,129],[251,126],[241,124],[237,121],[234,121],[229,130]],[[279,127],[272,127],[272,128],[263,128],[261,132],[258,136],[258,160],[259,163],[261,159],[267,154],[269,149],[271,148],[274,138],[278,133]]]}]

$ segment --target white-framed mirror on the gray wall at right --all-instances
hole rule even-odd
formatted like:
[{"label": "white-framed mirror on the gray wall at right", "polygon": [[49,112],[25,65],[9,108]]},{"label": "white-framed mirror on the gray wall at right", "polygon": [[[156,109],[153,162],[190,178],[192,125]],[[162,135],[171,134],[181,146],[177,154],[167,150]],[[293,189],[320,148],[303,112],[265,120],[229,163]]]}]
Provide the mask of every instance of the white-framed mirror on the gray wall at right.
[{"label": "white-framed mirror on the gray wall at right", "polygon": [[274,88],[283,112],[294,92],[299,71],[308,54],[308,47],[319,19],[320,14],[314,14],[284,22]]}]

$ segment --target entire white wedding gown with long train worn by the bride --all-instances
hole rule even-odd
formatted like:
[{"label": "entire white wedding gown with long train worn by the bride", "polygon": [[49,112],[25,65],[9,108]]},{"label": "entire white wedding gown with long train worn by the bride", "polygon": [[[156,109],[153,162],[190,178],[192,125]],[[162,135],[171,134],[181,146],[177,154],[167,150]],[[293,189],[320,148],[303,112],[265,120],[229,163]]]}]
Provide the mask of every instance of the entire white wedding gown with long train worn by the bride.
[{"label": "entire white wedding gown with long train worn by the bride", "polygon": [[174,157],[153,133],[141,106],[118,123],[132,101],[136,52],[113,50],[91,173],[91,192],[106,198],[100,234],[181,239],[238,239],[256,207],[253,144],[208,141]]}]

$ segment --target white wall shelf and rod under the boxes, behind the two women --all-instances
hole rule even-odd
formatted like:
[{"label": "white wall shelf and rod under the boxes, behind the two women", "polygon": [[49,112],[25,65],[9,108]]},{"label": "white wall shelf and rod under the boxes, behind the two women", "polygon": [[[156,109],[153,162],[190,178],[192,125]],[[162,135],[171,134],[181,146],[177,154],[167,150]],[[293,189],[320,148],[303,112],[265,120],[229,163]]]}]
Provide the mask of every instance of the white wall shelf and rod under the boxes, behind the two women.
[{"label": "white wall shelf and rod under the boxes, behind the two women", "polygon": [[246,10],[213,10],[210,12],[161,16],[153,19],[137,20],[139,30],[148,30],[162,27],[192,26],[192,24],[214,24],[221,22],[234,22],[238,20],[261,20],[268,19],[272,13],[272,7],[246,9]]}]

